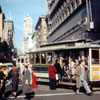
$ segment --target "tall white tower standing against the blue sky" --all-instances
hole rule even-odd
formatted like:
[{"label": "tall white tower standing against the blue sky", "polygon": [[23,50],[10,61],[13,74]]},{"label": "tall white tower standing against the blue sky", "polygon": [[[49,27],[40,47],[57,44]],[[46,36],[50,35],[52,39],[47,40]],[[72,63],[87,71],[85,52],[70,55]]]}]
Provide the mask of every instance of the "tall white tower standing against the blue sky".
[{"label": "tall white tower standing against the blue sky", "polygon": [[[30,49],[30,45],[32,44],[32,18],[30,16],[26,16],[24,18],[24,54],[28,52]],[[30,40],[31,39],[31,40]]]}]

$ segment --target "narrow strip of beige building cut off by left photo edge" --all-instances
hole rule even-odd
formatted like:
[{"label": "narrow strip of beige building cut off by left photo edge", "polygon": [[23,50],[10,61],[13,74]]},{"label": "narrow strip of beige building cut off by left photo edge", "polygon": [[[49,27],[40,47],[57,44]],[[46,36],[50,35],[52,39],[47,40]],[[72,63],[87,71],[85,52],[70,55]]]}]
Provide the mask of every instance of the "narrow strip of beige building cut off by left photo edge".
[{"label": "narrow strip of beige building cut off by left photo edge", "polygon": [[2,8],[0,6],[0,38],[1,38],[1,40],[3,40],[4,19],[5,19],[5,16],[4,16],[4,14],[2,12]]}]

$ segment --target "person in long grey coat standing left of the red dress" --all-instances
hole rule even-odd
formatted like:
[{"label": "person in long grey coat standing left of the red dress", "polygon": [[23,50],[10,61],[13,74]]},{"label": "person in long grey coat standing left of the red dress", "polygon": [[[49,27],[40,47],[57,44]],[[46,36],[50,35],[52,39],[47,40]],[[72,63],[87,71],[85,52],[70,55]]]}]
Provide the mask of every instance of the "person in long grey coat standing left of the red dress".
[{"label": "person in long grey coat standing left of the red dress", "polygon": [[30,86],[30,72],[28,70],[28,66],[24,65],[24,71],[23,71],[23,80],[22,80],[22,87],[23,87],[23,93],[25,94],[25,99],[30,99],[30,92],[31,92],[31,86]]}]

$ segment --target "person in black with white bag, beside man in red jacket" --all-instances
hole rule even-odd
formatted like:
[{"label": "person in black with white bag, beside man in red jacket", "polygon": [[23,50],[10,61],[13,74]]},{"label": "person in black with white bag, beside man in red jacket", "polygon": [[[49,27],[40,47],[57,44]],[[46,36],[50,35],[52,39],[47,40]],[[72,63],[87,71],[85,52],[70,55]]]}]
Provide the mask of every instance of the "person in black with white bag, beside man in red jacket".
[{"label": "person in black with white bag, beside man in red jacket", "polygon": [[58,61],[58,59],[56,59],[56,63],[55,63],[55,68],[57,70],[57,73],[56,73],[56,85],[59,85],[61,84],[61,75],[62,75],[62,69],[61,69],[61,66],[60,66],[60,63]]}]

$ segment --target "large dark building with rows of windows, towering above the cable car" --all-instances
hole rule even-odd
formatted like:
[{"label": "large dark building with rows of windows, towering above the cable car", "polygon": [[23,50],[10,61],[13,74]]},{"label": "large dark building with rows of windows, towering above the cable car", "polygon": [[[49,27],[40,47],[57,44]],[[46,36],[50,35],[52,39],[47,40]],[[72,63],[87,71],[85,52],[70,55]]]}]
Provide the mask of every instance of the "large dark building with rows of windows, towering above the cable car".
[{"label": "large dark building with rows of windows, towering above the cable car", "polygon": [[100,0],[47,0],[48,42],[100,38]]}]

